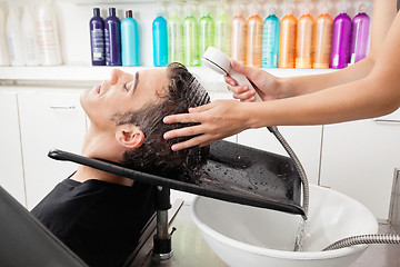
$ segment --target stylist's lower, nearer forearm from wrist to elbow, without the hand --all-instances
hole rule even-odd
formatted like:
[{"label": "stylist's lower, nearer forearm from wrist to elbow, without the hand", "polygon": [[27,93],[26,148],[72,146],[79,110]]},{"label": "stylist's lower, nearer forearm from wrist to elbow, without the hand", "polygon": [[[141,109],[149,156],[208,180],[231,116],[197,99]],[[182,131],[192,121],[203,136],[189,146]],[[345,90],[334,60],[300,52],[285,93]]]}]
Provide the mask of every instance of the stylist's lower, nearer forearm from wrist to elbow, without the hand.
[{"label": "stylist's lower, nearer forearm from wrist to elbow, without the hand", "polygon": [[253,103],[248,123],[250,128],[326,125],[383,116],[400,102],[400,93],[381,90],[384,83],[368,77],[304,96]]}]

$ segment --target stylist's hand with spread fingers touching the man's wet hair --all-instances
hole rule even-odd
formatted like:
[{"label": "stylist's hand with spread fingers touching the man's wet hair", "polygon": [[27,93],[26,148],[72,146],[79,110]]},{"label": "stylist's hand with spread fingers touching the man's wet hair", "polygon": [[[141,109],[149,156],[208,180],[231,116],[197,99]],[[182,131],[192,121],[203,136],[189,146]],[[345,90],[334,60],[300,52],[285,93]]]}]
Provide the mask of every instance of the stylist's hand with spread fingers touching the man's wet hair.
[{"label": "stylist's hand with spread fingers touching the man's wet hair", "polygon": [[163,119],[164,123],[200,122],[200,125],[167,131],[163,137],[172,139],[196,136],[187,141],[174,144],[171,147],[173,151],[194,146],[208,146],[247,128],[246,108],[248,105],[236,100],[216,100],[204,106],[190,108],[189,113],[167,116]]}]

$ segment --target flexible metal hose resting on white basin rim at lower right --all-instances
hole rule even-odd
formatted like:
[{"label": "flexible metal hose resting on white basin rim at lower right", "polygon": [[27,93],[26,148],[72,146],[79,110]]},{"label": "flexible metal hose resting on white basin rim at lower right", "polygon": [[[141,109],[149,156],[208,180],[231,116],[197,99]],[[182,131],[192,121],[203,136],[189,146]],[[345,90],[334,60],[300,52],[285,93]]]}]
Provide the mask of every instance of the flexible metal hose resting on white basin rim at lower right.
[{"label": "flexible metal hose resting on white basin rim at lower right", "polygon": [[400,244],[400,235],[362,235],[347,237],[329,245],[322,251],[340,249],[362,244]]}]

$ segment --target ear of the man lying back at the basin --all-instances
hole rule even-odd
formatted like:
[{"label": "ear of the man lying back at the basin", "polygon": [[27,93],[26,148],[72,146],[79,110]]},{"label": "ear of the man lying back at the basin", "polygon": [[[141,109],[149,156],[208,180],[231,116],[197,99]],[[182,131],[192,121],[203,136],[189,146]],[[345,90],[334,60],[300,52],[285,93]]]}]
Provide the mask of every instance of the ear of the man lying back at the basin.
[{"label": "ear of the man lying back at the basin", "polygon": [[139,148],[144,141],[144,134],[137,126],[123,125],[118,129],[116,139],[128,149]]}]

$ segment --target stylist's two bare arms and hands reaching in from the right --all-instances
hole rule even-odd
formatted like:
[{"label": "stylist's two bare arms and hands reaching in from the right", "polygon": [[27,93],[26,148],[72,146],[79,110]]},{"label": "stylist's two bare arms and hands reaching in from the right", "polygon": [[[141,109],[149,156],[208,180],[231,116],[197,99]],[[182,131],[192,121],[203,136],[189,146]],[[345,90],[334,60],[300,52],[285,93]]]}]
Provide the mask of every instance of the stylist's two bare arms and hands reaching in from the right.
[{"label": "stylist's two bare arms and hands reaching in from the right", "polygon": [[164,118],[166,123],[200,122],[164,134],[166,139],[197,137],[172,150],[207,146],[244,129],[267,126],[327,125],[390,113],[400,106],[400,14],[396,0],[376,0],[369,56],[328,75],[277,78],[264,70],[232,61],[256,85],[256,91],[226,77],[236,100],[217,100]]}]

